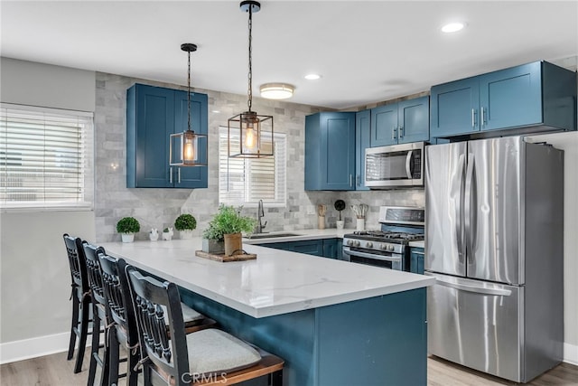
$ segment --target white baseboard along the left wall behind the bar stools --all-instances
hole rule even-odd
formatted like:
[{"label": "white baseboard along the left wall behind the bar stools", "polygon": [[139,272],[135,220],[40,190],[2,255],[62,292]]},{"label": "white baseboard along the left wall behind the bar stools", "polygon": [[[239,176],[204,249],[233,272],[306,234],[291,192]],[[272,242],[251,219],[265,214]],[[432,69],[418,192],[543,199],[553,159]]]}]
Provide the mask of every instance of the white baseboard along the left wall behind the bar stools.
[{"label": "white baseboard along the left wall behind the bar stools", "polygon": [[[68,351],[69,340],[70,333],[61,333],[0,344],[0,364]],[[87,346],[89,345],[90,335],[87,339]]]}]

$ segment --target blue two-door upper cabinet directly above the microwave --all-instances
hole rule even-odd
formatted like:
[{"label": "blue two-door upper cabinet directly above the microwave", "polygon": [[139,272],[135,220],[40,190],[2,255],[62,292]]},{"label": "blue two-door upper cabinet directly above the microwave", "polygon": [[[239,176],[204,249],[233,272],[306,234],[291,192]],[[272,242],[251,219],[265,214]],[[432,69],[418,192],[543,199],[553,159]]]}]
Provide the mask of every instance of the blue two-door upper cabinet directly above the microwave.
[{"label": "blue two-door upper cabinet directly above the microwave", "polygon": [[427,141],[429,97],[402,100],[371,109],[371,147]]}]

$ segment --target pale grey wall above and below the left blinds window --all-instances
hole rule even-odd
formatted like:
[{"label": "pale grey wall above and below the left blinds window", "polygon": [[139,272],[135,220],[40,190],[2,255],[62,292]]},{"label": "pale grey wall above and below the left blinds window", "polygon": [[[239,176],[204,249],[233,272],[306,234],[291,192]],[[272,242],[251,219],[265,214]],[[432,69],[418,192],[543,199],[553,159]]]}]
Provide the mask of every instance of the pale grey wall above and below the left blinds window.
[{"label": "pale grey wall above and below the left blinds window", "polygon": [[[0,81],[2,102],[94,111],[94,72],[0,58]],[[0,362],[68,346],[65,232],[94,240],[94,212],[0,212]]]}]

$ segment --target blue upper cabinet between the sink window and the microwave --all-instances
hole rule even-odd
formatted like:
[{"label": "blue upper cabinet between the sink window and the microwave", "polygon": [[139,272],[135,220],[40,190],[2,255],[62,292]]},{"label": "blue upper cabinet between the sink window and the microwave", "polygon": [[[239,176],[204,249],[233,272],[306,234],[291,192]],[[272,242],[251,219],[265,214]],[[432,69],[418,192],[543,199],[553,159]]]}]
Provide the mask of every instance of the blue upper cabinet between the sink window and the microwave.
[{"label": "blue upper cabinet between the sink window and the microwave", "polygon": [[305,190],[355,190],[355,113],[305,117]]}]

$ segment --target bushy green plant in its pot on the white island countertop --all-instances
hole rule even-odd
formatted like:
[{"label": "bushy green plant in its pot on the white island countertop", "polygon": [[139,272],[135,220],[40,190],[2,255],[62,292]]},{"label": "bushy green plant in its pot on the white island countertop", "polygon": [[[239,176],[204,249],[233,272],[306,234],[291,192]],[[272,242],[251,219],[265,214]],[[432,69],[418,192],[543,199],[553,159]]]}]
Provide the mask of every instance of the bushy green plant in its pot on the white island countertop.
[{"label": "bushy green plant in its pot on the white island countertop", "polygon": [[256,220],[254,218],[241,215],[241,207],[235,209],[232,206],[221,204],[219,212],[210,221],[209,228],[203,231],[203,237],[208,240],[224,240],[225,254],[231,256],[236,251],[243,249],[241,232],[252,232],[255,225]]}]

